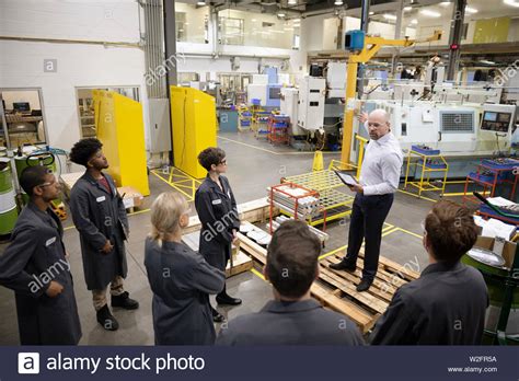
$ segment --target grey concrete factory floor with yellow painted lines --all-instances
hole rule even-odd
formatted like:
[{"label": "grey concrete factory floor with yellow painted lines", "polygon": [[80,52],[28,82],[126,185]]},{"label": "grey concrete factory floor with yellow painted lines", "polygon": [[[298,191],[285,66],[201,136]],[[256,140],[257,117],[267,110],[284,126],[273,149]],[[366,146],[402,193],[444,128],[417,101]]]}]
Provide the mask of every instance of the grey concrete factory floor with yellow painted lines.
[{"label": "grey concrete factory floor with yellow painted lines", "polygon": [[[275,147],[257,140],[251,132],[221,132],[218,145],[227,152],[228,174],[239,204],[266,196],[266,187],[278,184],[279,178],[312,171],[313,153],[298,152],[287,147]],[[324,153],[325,168],[339,153]],[[119,321],[117,332],[105,332],[95,320],[91,293],[86,290],[81,262],[81,252],[77,230],[69,220],[66,222],[65,245],[70,254],[74,291],[81,318],[83,337],[81,345],[152,345],[153,326],[151,315],[152,293],[143,266],[145,240],[150,230],[147,210],[157,195],[172,188],[158,176],[150,175],[151,196],[147,197],[140,212],[129,217],[130,238],[127,243],[128,277],[126,290],[140,302],[137,311],[116,309],[114,315]],[[408,264],[422,272],[427,266],[427,256],[422,247],[420,222],[432,203],[418,199],[404,193],[396,193],[391,212],[387,219],[381,254]],[[328,224],[326,232],[330,241],[324,252],[333,251],[347,243],[349,220],[346,218]],[[0,245],[3,252],[5,244]],[[228,279],[228,292],[239,297],[243,304],[234,308],[219,308],[229,319],[256,312],[272,298],[270,286],[252,272]],[[214,300],[214,298],[211,298]],[[18,345],[19,334],[14,293],[0,287],[0,345]],[[496,319],[497,311],[489,312],[489,324]],[[519,314],[510,316],[509,332],[519,332]],[[217,327],[218,328],[218,327]]]}]

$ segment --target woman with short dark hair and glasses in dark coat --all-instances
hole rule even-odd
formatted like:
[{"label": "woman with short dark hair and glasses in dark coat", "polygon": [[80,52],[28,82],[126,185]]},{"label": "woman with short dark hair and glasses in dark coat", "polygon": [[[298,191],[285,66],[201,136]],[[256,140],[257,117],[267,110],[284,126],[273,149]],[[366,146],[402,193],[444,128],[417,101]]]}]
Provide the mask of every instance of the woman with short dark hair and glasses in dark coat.
[{"label": "woman with short dark hair and glasses in dark coat", "polygon": [[[195,207],[201,222],[199,252],[206,261],[224,272],[231,257],[231,243],[240,229],[237,201],[222,173],[227,172],[226,152],[210,147],[198,154],[198,162],[207,170],[207,177],[195,194]],[[218,304],[238,305],[241,300],[227,295],[226,287],[216,298]],[[212,309],[215,322],[224,318]]]}]

